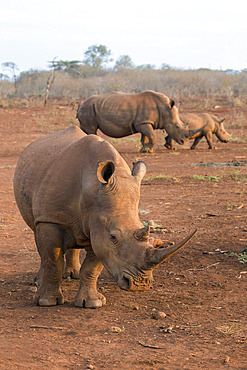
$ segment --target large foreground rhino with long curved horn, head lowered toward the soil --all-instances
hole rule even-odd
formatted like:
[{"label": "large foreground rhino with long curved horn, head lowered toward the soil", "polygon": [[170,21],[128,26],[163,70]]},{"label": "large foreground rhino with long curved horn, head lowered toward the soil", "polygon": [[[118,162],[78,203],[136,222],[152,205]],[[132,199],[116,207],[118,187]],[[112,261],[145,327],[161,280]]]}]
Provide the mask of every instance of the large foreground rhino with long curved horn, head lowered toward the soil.
[{"label": "large foreground rhino with long curved horn, head lowered toward the soil", "polygon": [[[30,144],[21,154],[14,176],[17,205],[33,230],[41,257],[40,306],[62,304],[61,281],[80,276],[75,304],[96,308],[105,297],[96,283],[103,266],[126,290],[152,285],[152,269],[180,249],[156,249],[149,227],[138,216],[140,183],[146,165],[132,172],[123,158],[98,136],[72,126]],[[80,269],[78,254],[86,249]]]}]

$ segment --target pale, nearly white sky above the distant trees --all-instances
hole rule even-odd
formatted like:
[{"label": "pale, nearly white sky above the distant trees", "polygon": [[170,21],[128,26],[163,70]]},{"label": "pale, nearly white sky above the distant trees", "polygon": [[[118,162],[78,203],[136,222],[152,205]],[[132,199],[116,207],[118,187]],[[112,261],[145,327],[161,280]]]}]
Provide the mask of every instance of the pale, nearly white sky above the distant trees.
[{"label": "pale, nearly white sky above the distant trees", "polygon": [[[20,71],[83,60],[93,44],[114,61],[177,68],[247,68],[245,2],[166,0],[9,0],[0,5],[0,64]],[[3,70],[0,67],[0,72]]]}]

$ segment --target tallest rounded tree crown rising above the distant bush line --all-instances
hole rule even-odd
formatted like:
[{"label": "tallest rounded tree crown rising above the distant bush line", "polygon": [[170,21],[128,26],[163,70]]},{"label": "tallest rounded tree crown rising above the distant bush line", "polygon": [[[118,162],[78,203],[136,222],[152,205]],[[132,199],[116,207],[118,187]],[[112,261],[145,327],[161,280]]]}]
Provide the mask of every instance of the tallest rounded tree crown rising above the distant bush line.
[{"label": "tallest rounded tree crown rising above the distant bush line", "polygon": [[92,67],[100,68],[104,64],[112,61],[110,58],[111,50],[108,50],[104,45],[92,45],[89,46],[87,51],[84,53],[85,59],[83,63]]}]

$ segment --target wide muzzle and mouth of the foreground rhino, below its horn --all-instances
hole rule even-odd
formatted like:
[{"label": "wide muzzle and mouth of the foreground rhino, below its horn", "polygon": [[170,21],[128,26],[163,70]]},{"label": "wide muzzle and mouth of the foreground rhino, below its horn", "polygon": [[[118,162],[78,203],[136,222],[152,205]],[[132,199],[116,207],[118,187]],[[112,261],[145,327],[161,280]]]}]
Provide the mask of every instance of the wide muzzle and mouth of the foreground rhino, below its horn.
[{"label": "wide muzzle and mouth of the foreground rhino, below its horn", "polygon": [[119,277],[117,282],[119,287],[123,290],[148,290],[153,285],[153,277],[152,274],[148,276],[132,277],[129,274],[123,273],[123,275]]}]

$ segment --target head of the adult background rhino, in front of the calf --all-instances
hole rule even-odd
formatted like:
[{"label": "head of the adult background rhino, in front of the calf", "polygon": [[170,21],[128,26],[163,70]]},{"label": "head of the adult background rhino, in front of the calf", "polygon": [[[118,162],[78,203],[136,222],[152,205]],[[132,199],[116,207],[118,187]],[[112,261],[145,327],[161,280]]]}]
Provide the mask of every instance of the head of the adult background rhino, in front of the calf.
[{"label": "head of the adult background rhino, in front of the calf", "polygon": [[188,124],[183,123],[179,117],[178,108],[175,106],[175,102],[170,99],[169,101],[168,116],[166,116],[166,124],[164,128],[171,139],[175,140],[178,144],[184,145],[186,139],[191,138],[198,132],[202,131],[208,124],[208,122],[199,129],[190,130],[186,127]]}]

